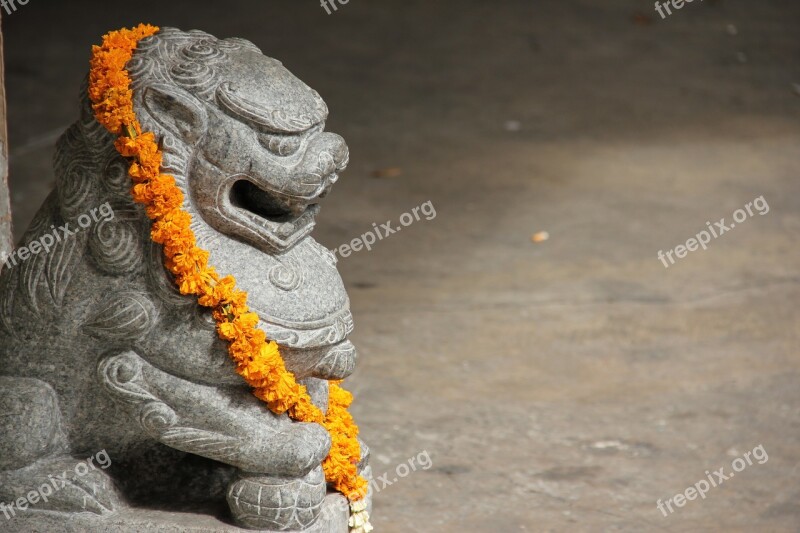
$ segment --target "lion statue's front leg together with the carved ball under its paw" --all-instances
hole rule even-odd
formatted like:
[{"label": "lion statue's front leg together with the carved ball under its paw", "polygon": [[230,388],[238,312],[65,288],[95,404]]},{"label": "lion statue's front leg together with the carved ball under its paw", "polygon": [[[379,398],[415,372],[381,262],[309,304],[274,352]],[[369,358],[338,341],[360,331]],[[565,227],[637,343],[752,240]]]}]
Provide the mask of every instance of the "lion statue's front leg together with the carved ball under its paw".
[{"label": "lion statue's front leg together with the carved ball under its paw", "polygon": [[327,492],[321,464],[331,445],[321,426],[274,415],[247,386],[186,381],[133,351],[102,359],[98,377],[148,436],[239,469],[228,490],[237,524],[302,530],[319,517]]}]

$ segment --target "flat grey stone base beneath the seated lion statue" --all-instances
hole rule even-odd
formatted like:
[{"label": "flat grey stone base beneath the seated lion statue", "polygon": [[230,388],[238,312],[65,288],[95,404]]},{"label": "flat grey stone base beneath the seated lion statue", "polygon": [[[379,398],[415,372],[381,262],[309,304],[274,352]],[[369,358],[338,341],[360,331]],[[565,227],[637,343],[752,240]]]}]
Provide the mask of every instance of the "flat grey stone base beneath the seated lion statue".
[{"label": "flat grey stone base beneath the seated lion statue", "polygon": [[[213,511],[211,511],[213,512]],[[302,533],[348,533],[349,506],[344,496],[330,493],[325,498],[322,514],[311,528]],[[198,512],[156,511],[123,507],[114,514],[61,514],[49,511],[26,511],[10,520],[0,513],[0,533],[52,533],[53,531],[103,533],[247,533],[252,530],[233,525],[225,509],[217,515]],[[284,531],[283,533],[301,533]]]}]

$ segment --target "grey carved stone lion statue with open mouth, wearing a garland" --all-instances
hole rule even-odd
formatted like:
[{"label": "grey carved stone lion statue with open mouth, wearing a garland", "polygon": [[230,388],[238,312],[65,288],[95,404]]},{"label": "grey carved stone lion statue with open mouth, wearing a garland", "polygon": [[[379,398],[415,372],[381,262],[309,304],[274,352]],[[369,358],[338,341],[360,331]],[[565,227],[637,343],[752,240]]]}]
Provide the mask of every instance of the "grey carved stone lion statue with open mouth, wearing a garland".
[{"label": "grey carved stone lion statue with open mouth, wearing a garland", "polygon": [[[310,237],[349,158],[324,131],[325,103],[252,43],[200,31],[142,40],[128,71],[199,246],[249,293],[324,409],[328,380],[356,360],[336,259]],[[80,119],[58,141],[55,190],[0,273],[0,501],[13,511],[63,472],[29,510],[227,499],[242,527],[306,530],[326,498],[330,438],[251,394],[210,311],[174,287],[128,166],[84,86]],[[108,469],[75,468],[100,450]]]}]

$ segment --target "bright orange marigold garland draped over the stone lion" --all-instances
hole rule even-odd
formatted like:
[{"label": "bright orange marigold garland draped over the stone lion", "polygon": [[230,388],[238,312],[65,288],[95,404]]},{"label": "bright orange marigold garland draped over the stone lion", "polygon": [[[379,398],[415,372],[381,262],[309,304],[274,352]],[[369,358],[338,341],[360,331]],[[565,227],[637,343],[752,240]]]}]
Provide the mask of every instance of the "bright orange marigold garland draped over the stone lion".
[{"label": "bright orange marigold garland draped over the stone lion", "polygon": [[165,265],[181,294],[197,297],[199,305],[213,310],[219,336],[229,342],[236,371],[253,387],[253,393],[276,414],[300,422],[321,424],[331,435],[330,455],[323,462],[326,479],[351,501],[353,531],[369,532],[364,497],[368,482],[358,475],[361,457],[358,426],[347,411],[353,400],[339,381],[330,382],[327,415],[311,402],[306,388],[286,369],[278,345],[258,328],[259,317],[247,306],[247,293],[236,288],[232,276],[220,276],[209,266],[209,253],[196,245],[184,211],[183,193],[172,176],[161,173],[162,153],[156,136],[142,132],[133,107],[133,91],[125,69],[138,42],[159,28],[140,24],[112,31],[101,46],[92,49],[89,98],[95,117],[118,135],[115,147],[131,162],[131,195],[152,220],[151,238],[163,245]]}]

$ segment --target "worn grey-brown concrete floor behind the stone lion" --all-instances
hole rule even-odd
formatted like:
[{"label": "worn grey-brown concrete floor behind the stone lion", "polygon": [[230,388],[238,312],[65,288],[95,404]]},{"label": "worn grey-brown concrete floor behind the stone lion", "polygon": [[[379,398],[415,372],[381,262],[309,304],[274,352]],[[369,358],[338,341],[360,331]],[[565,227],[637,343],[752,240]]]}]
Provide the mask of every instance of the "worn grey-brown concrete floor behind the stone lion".
[{"label": "worn grey-brown concrete floor behind the stone lion", "polygon": [[[661,20],[650,0],[33,0],[4,18],[18,229],[89,45],[140,20],[249,38],[319,90],[352,151],[324,244],[433,202],[340,262],[374,469],[433,461],[382,488],[377,531],[800,531],[797,2]],[[762,195],[766,215],[658,260]],[[656,509],[759,445],[764,464]]]}]

